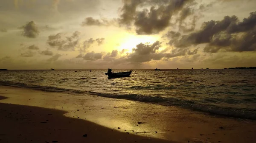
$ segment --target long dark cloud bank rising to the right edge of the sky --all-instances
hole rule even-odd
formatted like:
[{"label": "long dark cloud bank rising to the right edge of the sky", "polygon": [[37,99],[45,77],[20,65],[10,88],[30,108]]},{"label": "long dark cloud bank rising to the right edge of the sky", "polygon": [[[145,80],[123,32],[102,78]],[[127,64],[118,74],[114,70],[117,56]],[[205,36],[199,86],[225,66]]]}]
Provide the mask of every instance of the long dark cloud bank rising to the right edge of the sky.
[{"label": "long dark cloud bank rising to the right edge of the sky", "polygon": [[[171,35],[171,34],[169,34]],[[204,22],[199,31],[176,37],[169,36],[169,44],[176,48],[207,44],[204,52],[255,51],[256,50],[256,11],[239,22],[236,16],[225,16],[223,20]]]}]

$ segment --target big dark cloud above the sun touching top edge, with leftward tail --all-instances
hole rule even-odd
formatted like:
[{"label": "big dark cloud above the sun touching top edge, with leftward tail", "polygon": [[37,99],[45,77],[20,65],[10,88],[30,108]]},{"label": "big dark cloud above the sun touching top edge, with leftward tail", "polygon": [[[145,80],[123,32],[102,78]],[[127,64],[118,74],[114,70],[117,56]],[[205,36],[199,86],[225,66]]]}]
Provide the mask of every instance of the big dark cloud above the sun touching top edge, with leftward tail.
[{"label": "big dark cloud above the sun touching top edge, with leftward tail", "polygon": [[[97,20],[87,17],[82,25],[108,26],[118,23],[119,26],[131,28],[135,26],[137,34],[158,34],[170,26],[173,14],[177,14],[185,6],[193,5],[194,0],[123,0],[121,15],[117,19]],[[145,6],[150,7],[149,10]],[[179,21],[182,22],[193,13],[191,8],[185,8]]]}]

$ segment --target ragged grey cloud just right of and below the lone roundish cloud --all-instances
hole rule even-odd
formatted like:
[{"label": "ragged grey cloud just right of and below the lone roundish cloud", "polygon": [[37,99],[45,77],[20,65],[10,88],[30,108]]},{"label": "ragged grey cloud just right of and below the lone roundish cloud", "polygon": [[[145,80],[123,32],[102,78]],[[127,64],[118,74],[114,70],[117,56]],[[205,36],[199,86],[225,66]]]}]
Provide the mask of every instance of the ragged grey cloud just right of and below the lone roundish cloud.
[{"label": "ragged grey cloud just right of and below the lone roundish cloud", "polygon": [[79,46],[79,31],[75,31],[72,36],[66,36],[62,38],[64,34],[58,33],[56,35],[48,36],[47,44],[52,48],[57,48],[62,51],[75,51],[76,47]]}]

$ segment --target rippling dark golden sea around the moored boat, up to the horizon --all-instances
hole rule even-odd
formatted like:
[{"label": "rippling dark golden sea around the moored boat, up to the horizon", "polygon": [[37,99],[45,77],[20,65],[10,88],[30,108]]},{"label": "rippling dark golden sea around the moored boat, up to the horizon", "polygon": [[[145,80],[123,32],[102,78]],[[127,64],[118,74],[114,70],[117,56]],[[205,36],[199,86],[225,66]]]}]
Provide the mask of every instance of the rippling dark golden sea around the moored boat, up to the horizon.
[{"label": "rippling dark golden sea around the moored boat, up to the horizon", "polygon": [[256,119],[253,69],[133,70],[130,77],[116,79],[108,79],[106,72],[7,70],[0,71],[0,85],[121,98]]}]

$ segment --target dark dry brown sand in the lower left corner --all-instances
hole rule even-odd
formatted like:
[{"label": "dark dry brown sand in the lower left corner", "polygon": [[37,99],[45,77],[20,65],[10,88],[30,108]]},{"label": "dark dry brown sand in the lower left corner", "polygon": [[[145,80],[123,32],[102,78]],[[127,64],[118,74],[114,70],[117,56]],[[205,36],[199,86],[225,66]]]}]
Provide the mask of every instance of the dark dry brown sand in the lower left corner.
[{"label": "dark dry brown sand in the lower left corner", "polygon": [[175,143],[65,117],[64,111],[55,109],[0,103],[0,113],[1,143]]}]

